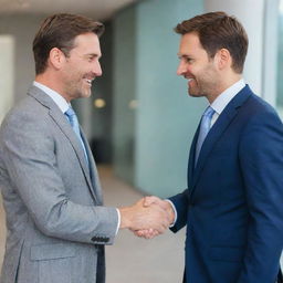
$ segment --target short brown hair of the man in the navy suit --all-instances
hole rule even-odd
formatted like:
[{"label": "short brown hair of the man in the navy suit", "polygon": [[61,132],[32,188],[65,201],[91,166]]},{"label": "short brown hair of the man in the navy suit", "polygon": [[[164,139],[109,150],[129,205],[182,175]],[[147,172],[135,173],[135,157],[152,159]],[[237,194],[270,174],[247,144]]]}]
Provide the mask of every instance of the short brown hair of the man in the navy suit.
[{"label": "short brown hair of the man in the navy suit", "polygon": [[234,17],[224,12],[209,12],[182,21],[175,31],[182,35],[196,32],[210,57],[220,49],[229,50],[234,72],[242,73],[249,40],[244,28]]}]

